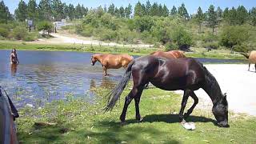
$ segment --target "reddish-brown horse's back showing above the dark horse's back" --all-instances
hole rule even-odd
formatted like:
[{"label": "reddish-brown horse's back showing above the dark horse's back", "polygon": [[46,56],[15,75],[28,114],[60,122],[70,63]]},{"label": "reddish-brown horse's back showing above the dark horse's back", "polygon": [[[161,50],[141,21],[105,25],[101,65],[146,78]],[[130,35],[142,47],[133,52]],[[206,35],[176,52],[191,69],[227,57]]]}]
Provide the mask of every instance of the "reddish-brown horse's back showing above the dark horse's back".
[{"label": "reddish-brown horse's back showing above the dark horse's back", "polygon": [[181,50],[170,50],[167,52],[164,51],[155,51],[154,53],[151,53],[151,55],[162,57],[162,58],[186,58],[184,55],[184,52]]}]

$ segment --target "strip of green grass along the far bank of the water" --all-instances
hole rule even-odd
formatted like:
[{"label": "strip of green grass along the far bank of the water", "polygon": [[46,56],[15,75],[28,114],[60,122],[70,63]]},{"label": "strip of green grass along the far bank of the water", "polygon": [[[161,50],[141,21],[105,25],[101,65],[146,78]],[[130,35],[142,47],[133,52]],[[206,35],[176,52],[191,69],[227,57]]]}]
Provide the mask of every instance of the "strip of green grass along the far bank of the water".
[{"label": "strip of green grass along the far bank of the water", "polygon": [[[30,42],[17,41],[0,41],[0,50],[61,50],[61,51],[82,51],[92,53],[111,53],[111,54],[131,54],[131,55],[147,55],[158,48],[139,48],[139,47],[118,47],[118,46],[90,46],[82,44],[35,44]],[[221,59],[242,59],[241,54],[230,54],[228,50],[212,50],[207,52],[206,49],[192,48],[195,52],[186,53],[187,57],[193,58],[221,58]]]}]

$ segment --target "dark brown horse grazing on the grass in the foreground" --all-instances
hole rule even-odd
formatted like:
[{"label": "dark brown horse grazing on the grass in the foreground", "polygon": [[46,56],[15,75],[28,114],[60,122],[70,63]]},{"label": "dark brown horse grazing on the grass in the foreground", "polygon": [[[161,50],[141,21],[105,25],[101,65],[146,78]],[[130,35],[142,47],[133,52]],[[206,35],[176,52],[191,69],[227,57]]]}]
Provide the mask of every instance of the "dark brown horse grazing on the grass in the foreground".
[{"label": "dark brown horse grazing on the grass in the foreground", "polygon": [[[127,67],[122,80],[108,94],[109,101],[105,108],[106,111],[113,109],[130,80],[131,74],[133,76],[134,86],[125,99],[120,116],[122,123],[125,122],[126,110],[133,98],[135,101],[136,119],[141,121],[139,113],[141,94],[145,84],[151,82],[154,86],[162,90],[184,90],[182,107],[179,112],[181,122],[186,122],[185,118],[192,113],[194,107],[198,104],[198,97],[194,94],[194,90],[202,88],[213,102],[212,112],[217,120],[218,126],[229,126],[226,94],[222,94],[222,90],[218,86],[218,82],[214,76],[206,70],[206,67],[202,66],[202,63],[197,62],[194,58],[166,59],[149,55],[134,59]],[[194,99],[194,104],[183,115],[189,96]]]}]

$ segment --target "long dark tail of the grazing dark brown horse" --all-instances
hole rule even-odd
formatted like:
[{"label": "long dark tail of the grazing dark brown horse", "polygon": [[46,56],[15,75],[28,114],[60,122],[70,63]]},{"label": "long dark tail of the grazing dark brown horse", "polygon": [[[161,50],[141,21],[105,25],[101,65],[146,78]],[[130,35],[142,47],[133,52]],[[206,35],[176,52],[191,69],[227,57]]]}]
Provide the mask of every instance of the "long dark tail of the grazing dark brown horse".
[{"label": "long dark tail of the grazing dark brown horse", "polygon": [[131,67],[134,65],[135,60],[131,61],[129,65],[127,66],[125,74],[122,76],[122,80],[118,83],[117,86],[114,87],[114,90],[111,90],[109,94],[107,94],[108,98],[108,104],[105,107],[105,112],[110,111],[113,109],[115,103],[120,98],[120,95],[122,94],[122,91],[125,89],[127,83],[130,80],[131,75]]}]

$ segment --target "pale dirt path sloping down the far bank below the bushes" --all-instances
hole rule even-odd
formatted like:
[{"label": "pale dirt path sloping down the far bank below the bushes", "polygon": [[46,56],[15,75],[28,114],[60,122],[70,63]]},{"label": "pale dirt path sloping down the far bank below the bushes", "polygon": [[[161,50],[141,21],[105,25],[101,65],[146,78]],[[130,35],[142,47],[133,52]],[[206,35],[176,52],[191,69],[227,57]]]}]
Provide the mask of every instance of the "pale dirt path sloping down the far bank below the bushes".
[{"label": "pale dirt path sloping down the far bank below the bushes", "polygon": [[95,40],[94,38],[82,37],[77,34],[68,34],[60,31],[59,33],[51,33],[54,38],[46,39],[39,38],[38,41],[34,41],[31,43],[41,43],[41,44],[85,44],[85,45],[94,45],[94,46],[123,46],[123,47],[153,47],[153,45],[146,44],[133,44],[133,45],[122,45],[115,42],[102,42]]}]

